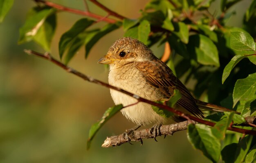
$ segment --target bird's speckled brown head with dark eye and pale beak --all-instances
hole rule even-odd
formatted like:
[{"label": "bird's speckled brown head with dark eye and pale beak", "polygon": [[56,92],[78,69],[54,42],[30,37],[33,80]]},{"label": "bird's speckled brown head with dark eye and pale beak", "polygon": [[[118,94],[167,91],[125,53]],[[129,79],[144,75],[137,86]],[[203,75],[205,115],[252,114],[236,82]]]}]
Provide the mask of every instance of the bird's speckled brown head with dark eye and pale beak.
[{"label": "bird's speckled brown head with dark eye and pale beak", "polygon": [[98,63],[109,64],[110,67],[120,67],[134,62],[150,61],[155,59],[153,52],[139,40],[124,37],[116,40],[109,48],[108,53]]}]

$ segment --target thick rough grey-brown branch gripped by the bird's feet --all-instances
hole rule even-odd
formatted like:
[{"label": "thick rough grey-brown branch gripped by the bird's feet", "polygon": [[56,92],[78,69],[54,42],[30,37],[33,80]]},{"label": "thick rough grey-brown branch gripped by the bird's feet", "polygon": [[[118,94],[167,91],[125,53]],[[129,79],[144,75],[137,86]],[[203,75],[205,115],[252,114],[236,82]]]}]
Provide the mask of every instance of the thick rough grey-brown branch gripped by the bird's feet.
[{"label": "thick rough grey-brown branch gripped by the bird's feet", "polygon": [[[174,123],[171,125],[162,125],[160,127],[160,132],[162,135],[172,136],[174,132],[186,130],[188,125],[191,123],[196,123],[195,121],[183,121],[180,123]],[[153,134],[150,134],[150,129],[136,130],[132,134],[129,134],[130,141],[140,141],[142,144],[143,138],[154,138]],[[121,144],[127,143],[128,141],[123,137],[123,134],[117,136],[107,137],[101,147],[115,147]]]}]

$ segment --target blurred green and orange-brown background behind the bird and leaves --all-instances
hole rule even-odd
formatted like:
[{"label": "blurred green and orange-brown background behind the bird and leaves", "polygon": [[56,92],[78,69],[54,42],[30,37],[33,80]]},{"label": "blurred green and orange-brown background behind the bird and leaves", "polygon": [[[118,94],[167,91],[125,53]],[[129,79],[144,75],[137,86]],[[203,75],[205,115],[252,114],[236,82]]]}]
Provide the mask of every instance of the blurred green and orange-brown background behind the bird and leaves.
[{"label": "blurred green and orange-brown background behind the bird and leaves", "polygon": [[[68,7],[84,9],[83,0],[54,0]],[[137,18],[147,0],[100,0],[110,9],[128,17]],[[228,24],[240,27],[251,0],[243,0],[230,11],[236,11]],[[52,63],[28,56],[23,49],[44,52],[34,42],[17,45],[19,28],[24,24],[27,11],[35,6],[33,0],[15,0],[13,8],[0,24],[0,162],[1,163],[205,163],[209,162],[194,150],[186,138],[186,131],[165,139],[144,140],[144,145],[123,144],[102,148],[106,136],[121,134],[134,127],[121,113],[115,115],[94,138],[90,150],[86,140],[90,126],[114,105],[109,90],[85,82]],[[90,11],[106,15],[88,2]],[[220,13],[220,1],[213,3],[211,13]],[[52,55],[58,57],[61,34],[81,16],[61,12],[57,15],[57,29],[52,42]],[[106,23],[99,22],[102,27]],[[84,49],[72,59],[70,66],[87,75],[107,82],[108,69],[97,64],[108,47],[123,36],[123,29],[102,38],[92,48],[88,59]],[[161,56],[164,47],[154,46]],[[149,127],[149,126],[148,126]]]}]

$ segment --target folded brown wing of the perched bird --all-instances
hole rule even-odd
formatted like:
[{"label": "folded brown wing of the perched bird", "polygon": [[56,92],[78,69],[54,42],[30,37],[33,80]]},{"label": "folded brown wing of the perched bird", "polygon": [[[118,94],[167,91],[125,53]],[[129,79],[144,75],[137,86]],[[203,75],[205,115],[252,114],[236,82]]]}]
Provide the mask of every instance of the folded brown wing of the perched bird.
[{"label": "folded brown wing of the perched bird", "polygon": [[194,116],[203,118],[203,113],[198,108],[195,100],[189,90],[182,82],[173,75],[171,69],[162,61],[139,62],[136,65],[146,81],[153,87],[159,88],[159,91],[166,97],[170,98],[174,89],[178,89],[182,95],[177,104],[189,111]]}]

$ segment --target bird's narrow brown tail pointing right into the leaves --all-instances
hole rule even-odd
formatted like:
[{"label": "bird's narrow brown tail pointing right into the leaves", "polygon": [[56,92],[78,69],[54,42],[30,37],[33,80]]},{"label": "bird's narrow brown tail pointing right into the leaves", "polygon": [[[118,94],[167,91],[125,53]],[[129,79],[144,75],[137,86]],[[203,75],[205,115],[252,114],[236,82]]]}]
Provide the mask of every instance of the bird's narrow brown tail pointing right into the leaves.
[{"label": "bird's narrow brown tail pointing right into the leaves", "polygon": [[235,112],[236,114],[241,114],[239,112],[236,112],[234,110],[231,110],[231,109],[227,109],[225,107],[221,107],[221,106],[218,106],[218,105],[214,105],[214,104],[211,104],[211,103],[206,103],[206,102],[203,102],[201,100],[197,100],[195,99],[195,103],[198,105],[198,107],[200,109],[205,109],[205,110],[208,110],[208,111],[215,111],[215,112]]}]

